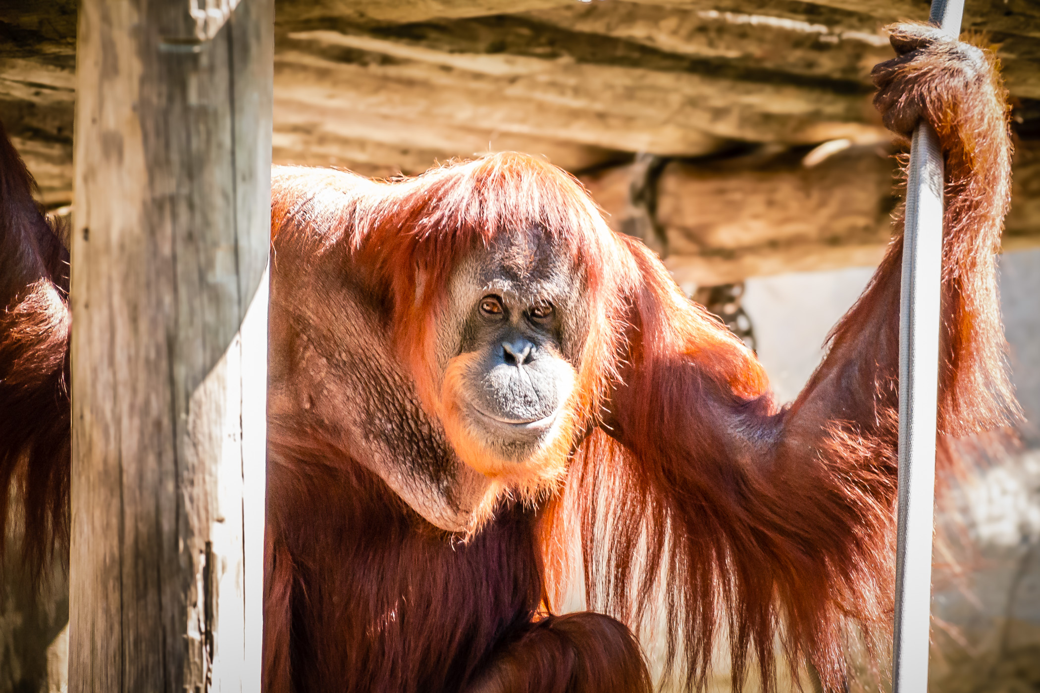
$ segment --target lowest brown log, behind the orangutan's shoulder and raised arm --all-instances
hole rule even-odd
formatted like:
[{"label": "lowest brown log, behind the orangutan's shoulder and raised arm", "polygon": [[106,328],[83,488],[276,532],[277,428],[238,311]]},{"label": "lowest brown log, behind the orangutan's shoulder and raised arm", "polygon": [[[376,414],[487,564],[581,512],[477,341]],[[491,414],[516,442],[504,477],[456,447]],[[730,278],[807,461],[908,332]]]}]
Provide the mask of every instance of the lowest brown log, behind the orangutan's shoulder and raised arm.
[{"label": "lowest brown log, behind the orangutan's shoulder and raised arm", "polygon": [[[807,166],[787,152],[672,161],[654,188],[656,224],[631,199],[632,164],[582,178],[610,225],[644,238],[680,284],[877,264],[891,236],[895,165],[881,148],[850,146]],[[808,159],[811,162],[811,158]],[[1019,146],[1005,249],[1040,244],[1040,142]]]}]

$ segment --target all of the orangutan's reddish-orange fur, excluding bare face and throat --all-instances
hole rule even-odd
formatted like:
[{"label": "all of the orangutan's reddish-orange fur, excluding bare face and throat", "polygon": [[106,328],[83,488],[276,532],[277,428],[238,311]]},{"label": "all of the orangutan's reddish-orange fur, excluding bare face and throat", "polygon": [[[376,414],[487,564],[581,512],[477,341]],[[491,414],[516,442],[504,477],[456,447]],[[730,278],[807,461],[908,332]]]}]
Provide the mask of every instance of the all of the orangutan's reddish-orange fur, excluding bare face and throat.
[{"label": "all of the orangutan's reddish-orange fur, excluding bare face and throat", "polygon": [[[916,31],[902,25],[893,45],[915,48]],[[1010,188],[1005,94],[991,63],[972,76],[944,51],[885,63],[876,79],[889,126],[905,133],[924,114],[946,153],[938,421],[948,470],[950,436],[999,427],[1015,404],[993,262]],[[15,273],[0,275],[0,490],[25,470],[26,547],[38,560],[55,533],[67,540],[69,320],[51,298],[67,285],[7,148],[0,267]],[[705,684],[723,631],[736,685],[756,663],[766,689],[777,639],[788,666],[811,662],[830,687],[842,679],[850,630],[883,641],[900,236],[803,393],[779,408],[754,355],[645,247],[609,232],[576,181],[539,159],[489,155],[393,183],[279,169],[271,218],[265,690],[646,691],[621,622],[636,627],[653,603],[667,612],[670,663],[691,688]],[[348,394],[405,392],[398,408],[415,430],[398,443],[424,451],[419,462],[450,457],[437,438],[448,415],[434,358],[444,287],[472,248],[530,229],[584,272],[591,319],[573,439],[543,460],[568,471],[563,481],[493,484],[482,528],[462,542],[394,495],[370,471],[368,448],[334,426],[337,409],[321,408],[361,363],[336,351],[335,329],[363,324],[350,334],[389,373]],[[321,313],[312,284],[330,300],[346,289],[364,300]],[[518,487],[525,503],[505,495]],[[569,528],[580,536],[590,608],[621,622],[550,614]]]}]

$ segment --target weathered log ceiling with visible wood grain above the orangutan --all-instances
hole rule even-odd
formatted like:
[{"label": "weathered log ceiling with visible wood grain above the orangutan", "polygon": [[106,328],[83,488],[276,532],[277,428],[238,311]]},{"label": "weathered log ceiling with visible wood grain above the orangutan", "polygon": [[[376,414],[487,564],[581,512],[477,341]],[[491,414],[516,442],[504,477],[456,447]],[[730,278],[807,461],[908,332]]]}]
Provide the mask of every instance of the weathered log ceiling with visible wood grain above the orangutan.
[{"label": "weathered log ceiling with visible wood grain above the orangutan", "polygon": [[[883,27],[928,12],[927,0],[277,4],[274,159],[383,177],[489,150],[540,154],[589,172],[639,153],[694,158],[698,167],[749,148],[800,150],[837,138],[887,144],[867,75],[892,55]],[[74,12],[70,0],[57,2],[53,17],[30,0],[0,0],[0,29],[12,38],[0,46],[0,118],[55,206],[69,201],[72,181]],[[997,45],[1020,150],[1033,148],[1040,141],[1040,3],[967,0],[965,27]],[[1016,162],[1022,192],[1008,220],[1008,247],[1040,237],[1040,167],[1029,161]],[[777,187],[787,184],[774,172]],[[863,198],[856,176],[818,182],[834,199]],[[771,194],[771,184],[760,183],[753,189]],[[876,186],[868,181],[868,188]],[[773,209],[754,194],[744,193],[751,207]],[[762,221],[773,223],[768,215]],[[670,262],[702,267],[709,257],[709,267],[734,276],[877,256],[849,255],[844,242],[794,251],[789,219],[777,223],[777,236],[753,252],[727,255],[747,239],[717,234],[726,252],[685,262],[679,249],[693,246],[677,243]]]}]

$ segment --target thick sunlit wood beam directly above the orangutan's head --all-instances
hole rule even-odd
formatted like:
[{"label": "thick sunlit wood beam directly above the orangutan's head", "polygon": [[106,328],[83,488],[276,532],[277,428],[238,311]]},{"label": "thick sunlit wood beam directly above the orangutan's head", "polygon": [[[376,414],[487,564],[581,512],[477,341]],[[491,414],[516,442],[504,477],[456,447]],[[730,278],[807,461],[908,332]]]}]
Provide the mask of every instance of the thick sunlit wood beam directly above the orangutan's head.
[{"label": "thick sunlit wood beam directly above the orangutan's head", "polygon": [[[517,27],[496,28],[492,35]],[[327,117],[322,127],[355,128],[350,136],[399,146],[472,155],[474,137],[459,137],[472,132],[482,140],[477,152],[487,151],[484,134],[497,133],[700,156],[729,140],[807,143],[877,139],[880,132],[864,107],[868,89],[858,85],[850,92],[829,83],[749,81],[681,65],[470,53],[424,45],[436,39],[330,30],[294,32],[288,41],[276,58],[279,123],[293,109],[318,124],[318,113],[338,112],[339,123]]]}]

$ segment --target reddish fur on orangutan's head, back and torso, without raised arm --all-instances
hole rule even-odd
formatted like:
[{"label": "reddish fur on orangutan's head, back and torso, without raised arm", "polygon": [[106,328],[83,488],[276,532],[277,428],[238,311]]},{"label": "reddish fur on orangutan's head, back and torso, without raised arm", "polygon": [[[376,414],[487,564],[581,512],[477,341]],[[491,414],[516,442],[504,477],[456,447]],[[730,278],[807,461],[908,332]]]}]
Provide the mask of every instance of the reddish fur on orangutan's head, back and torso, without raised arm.
[{"label": "reddish fur on orangutan's head, back and torso, without raised arm", "polygon": [[[312,201],[309,191],[319,188],[321,198]],[[276,171],[272,189],[272,354],[276,344],[296,339],[290,337],[296,329],[294,309],[282,304],[280,291],[288,294],[288,287],[324,268],[331,274],[358,273],[368,292],[385,301],[378,309],[388,321],[394,355],[410,366],[419,398],[434,415],[443,410],[443,385],[430,369],[430,316],[442,310],[445,297],[432,288],[446,286],[452,266],[474,243],[510,233],[515,224],[538,222],[560,234],[558,247],[579,254],[589,286],[627,281],[616,268],[625,271],[628,254],[583,190],[530,157],[491,157],[393,184],[288,168]],[[442,231],[447,219],[453,219],[449,234]],[[300,257],[312,259],[305,274],[296,266]],[[284,271],[280,263],[286,263]],[[419,275],[424,275],[422,291]],[[581,348],[572,398],[581,422],[592,419],[616,377],[623,328],[605,316],[619,314],[621,299],[600,291],[590,300],[604,320],[596,322]],[[335,354],[323,357],[335,361]],[[279,359],[272,358],[277,382]],[[343,446],[312,424],[302,430],[312,419],[291,402],[282,409],[277,392],[276,387],[270,408],[284,414],[271,416],[268,431],[266,690],[326,690],[333,682],[345,682],[336,686],[352,691],[649,689],[639,647],[623,625],[592,614],[547,617],[537,512],[505,503],[472,538],[452,538],[388,494],[364,469],[363,450]],[[555,446],[560,459],[550,461],[561,469],[572,439]],[[301,524],[304,506],[321,511]],[[322,524],[315,527],[315,521]],[[284,568],[290,560],[292,567]],[[315,569],[324,577],[314,578]],[[326,593],[343,595],[337,602],[348,606],[330,604]],[[324,604],[315,609],[322,615],[294,614],[290,628],[278,614],[291,613],[290,605],[301,599]],[[410,618],[398,611],[405,604]],[[371,623],[380,631],[366,634]],[[599,670],[607,662],[610,667]],[[334,670],[314,672],[315,667]]]}]

